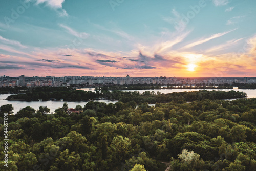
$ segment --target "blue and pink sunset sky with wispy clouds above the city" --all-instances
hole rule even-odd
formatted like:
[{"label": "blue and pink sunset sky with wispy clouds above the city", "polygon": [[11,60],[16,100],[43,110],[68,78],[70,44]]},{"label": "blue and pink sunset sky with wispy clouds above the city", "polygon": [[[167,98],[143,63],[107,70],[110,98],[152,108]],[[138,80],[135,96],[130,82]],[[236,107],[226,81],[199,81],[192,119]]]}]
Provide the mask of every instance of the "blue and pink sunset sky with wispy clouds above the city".
[{"label": "blue and pink sunset sky with wispy clouds above the city", "polygon": [[1,0],[0,76],[256,77],[254,0]]}]

